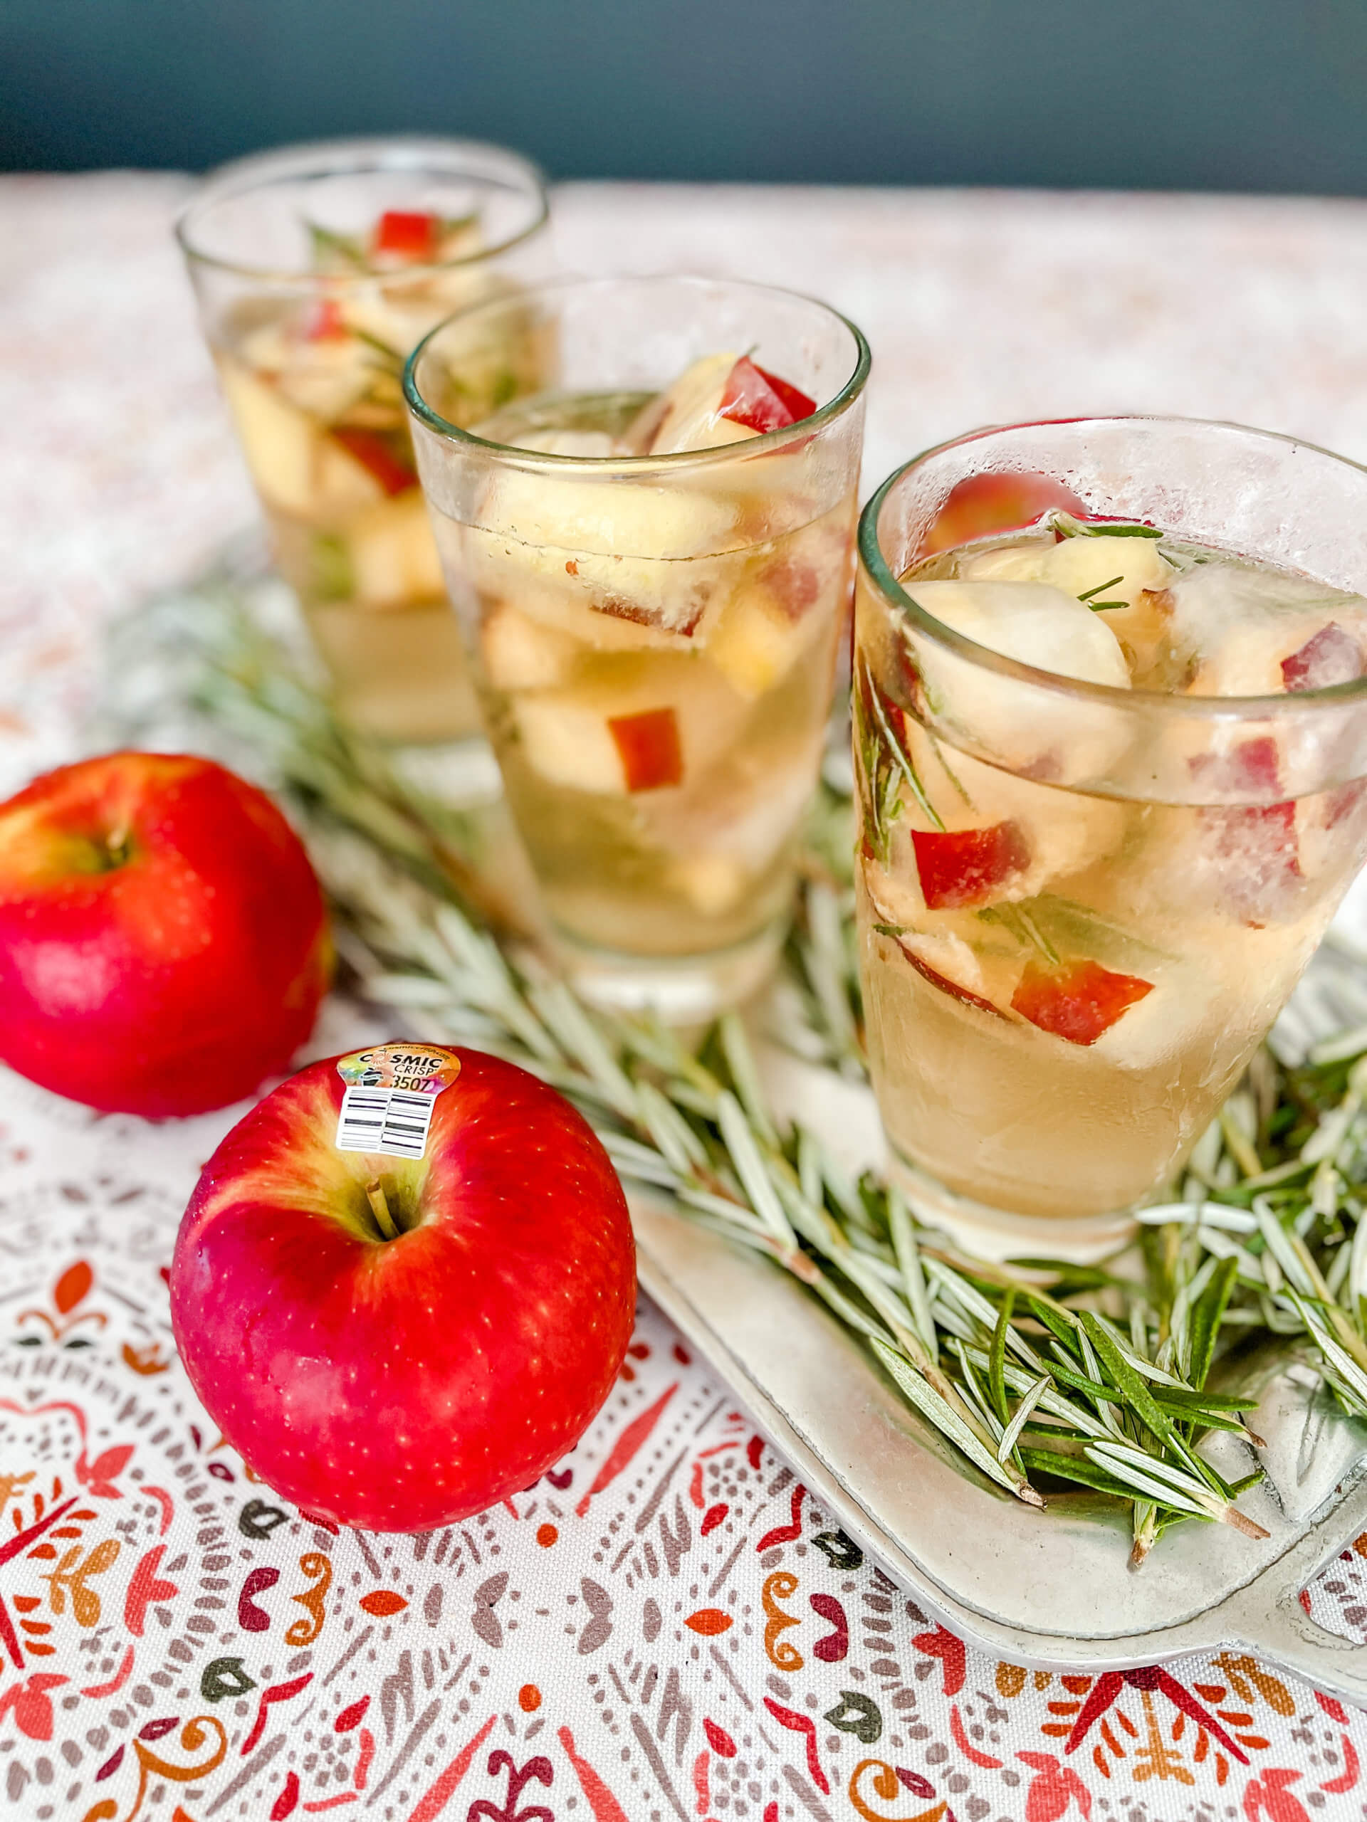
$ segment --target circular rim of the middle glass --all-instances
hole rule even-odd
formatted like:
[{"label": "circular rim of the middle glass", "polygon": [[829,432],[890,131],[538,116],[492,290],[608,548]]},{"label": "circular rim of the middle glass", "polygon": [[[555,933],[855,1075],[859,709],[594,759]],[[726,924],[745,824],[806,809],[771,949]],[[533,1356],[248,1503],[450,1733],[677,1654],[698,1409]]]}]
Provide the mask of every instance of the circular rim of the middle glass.
[{"label": "circular rim of the middle glass", "polygon": [[[745,437],[740,443],[716,443],[702,450],[674,450],[667,456],[560,456],[550,450],[529,450],[521,448],[518,443],[494,443],[488,437],[478,437],[472,430],[463,430],[459,425],[450,423],[441,412],[434,410],[417,388],[417,363],[434,343],[437,335],[452,326],[452,322],[461,322],[476,317],[481,310],[499,310],[509,308],[516,302],[527,302],[534,297],[545,297],[549,293],[565,293],[572,290],[592,290],[607,288],[614,284],[640,284],[640,286],[660,286],[660,284],[693,284],[693,286],[714,286],[725,284],[742,292],[755,292],[764,297],[782,297],[786,301],[797,301],[809,304],[815,310],[824,312],[833,322],[840,322],[855,341],[855,366],[849,377],[844,381],[840,390],[827,399],[826,404],[818,406],[809,417],[800,417],[795,425],[786,425],[780,430],[764,430],[756,437]],[[842,417],[849,406],[862,394],[869,368],[873,364],[873,355],[864,332],[857,322],[851,322],[844,312],[837,310],[835,304],[824,302],[820,297],[811,297],[807,292],[795,292],[782,284],[764,284],[758,279],[731,279],[724,273],[705,273],[705,271],[654,271],[654,273],[612,273],[612,275],[576,275],[561,273],[554,279],[545,279],[536,284],[527,284],[512,293],[503,293],[499,297],[485,297],[478,304],[467,304],[463,310],[454,310],[441,322],[434,324],[427,335],[417,343],[414,352],[408,355],[403,368],[403,395],[408,403],[408,410],[434,435],[445,437],[450,443],[468,443],[476,450],[488,450],[494,456],[527,468],[529,472],[545,474],[567,474],[572,468],[587,468],[594,474],[622,472],[631,476],[643,476],[651,472],[671,472],[678,474],[680,468],[705,466],[718,461],[735,461],[738,456],[751,456],[756,450],[782,448],[784,443],[811,437],[824,430],[837,417]]]}]

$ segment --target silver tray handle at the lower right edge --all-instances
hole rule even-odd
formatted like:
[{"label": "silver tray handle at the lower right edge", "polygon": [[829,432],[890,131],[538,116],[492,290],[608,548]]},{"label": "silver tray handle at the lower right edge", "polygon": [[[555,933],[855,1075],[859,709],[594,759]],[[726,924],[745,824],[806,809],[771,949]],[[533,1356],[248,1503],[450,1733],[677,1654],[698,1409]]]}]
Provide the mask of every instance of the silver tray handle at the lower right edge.
[{"label": "silver tray handle at the lower right edge", "polygon": [[1338,1501],[1320,1523],[1259,1576],[1232,1614],[1239,1643],[1270,1658],[1309,1684],[1347,1702],[1367,1705],[1367,1643],[1331,1633],[1301,1607],[1301,1589],[1367,1530],[1367,1478]]}]

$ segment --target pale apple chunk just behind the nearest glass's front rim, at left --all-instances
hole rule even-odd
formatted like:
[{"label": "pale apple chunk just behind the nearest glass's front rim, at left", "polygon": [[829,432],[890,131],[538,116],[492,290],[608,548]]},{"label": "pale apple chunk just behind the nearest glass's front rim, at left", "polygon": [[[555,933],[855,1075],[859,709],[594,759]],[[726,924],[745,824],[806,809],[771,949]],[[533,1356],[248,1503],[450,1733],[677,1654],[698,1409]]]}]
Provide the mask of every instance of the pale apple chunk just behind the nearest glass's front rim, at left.
[{"label": "pale apple chunk just behind the nearest glass's front rim, at left", "polygon": [[908,581],[913,601],[966,640],[1002,658],[1084,683],[1130,687],[1105,618],[1075,596],[1037,581]]}]

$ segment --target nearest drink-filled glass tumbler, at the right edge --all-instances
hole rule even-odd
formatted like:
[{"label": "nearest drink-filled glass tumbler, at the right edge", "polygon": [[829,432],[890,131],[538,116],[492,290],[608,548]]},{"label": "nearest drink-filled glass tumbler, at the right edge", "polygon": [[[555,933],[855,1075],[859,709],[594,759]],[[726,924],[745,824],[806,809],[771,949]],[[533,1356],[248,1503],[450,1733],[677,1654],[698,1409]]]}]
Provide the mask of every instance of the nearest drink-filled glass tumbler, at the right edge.
[{"label": "nearest drink-filled glass tumbler, at the right edge", "polygon": [[[1064,501],[1075,517],[1024,558],[961,543]],[[1159,528],[1185,579],[1143,592],[1163,547],[1084,548],[1105,519]],[[1105,1243],[1174,1181],[1367,853],[1367,603],[1329,594],[1367,590],[1367,470],[1183,419],[984,430],[884,483],[858,558],[858,940],[884,1130],[931,1217],[1017,1252]],[[1041,561],[1074,576],[1070,627],[1077,601],[1097,609],[1083,643],[1115,634],[1110,681],[1083,680],[1072,632],[1039,669],[1023,621],[988,649],[930,612],[962,601],[937,574]]]}]

